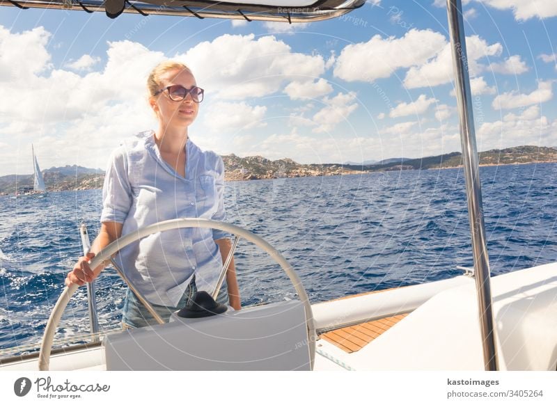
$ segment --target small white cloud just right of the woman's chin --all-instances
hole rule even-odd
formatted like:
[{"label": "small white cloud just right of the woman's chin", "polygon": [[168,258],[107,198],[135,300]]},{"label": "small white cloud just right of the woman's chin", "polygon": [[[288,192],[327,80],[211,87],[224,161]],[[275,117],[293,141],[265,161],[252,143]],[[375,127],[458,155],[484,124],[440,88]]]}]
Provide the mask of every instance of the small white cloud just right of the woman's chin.
[{"label": "small white cloud just right of the woman's chin", "polygon": [[250,106],[245,102],[217,102],[203,112],[203,123],[213,132],[230,134],[240,129],[264,127],[266,106]]}]

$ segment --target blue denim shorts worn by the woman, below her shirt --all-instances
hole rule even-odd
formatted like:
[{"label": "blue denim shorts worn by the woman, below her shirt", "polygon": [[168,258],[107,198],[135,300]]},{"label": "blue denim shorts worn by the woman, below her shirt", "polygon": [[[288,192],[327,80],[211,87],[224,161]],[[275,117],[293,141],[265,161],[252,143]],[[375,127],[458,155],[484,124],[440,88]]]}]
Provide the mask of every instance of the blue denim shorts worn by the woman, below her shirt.
[{"label": "blue denim shorts worn by the woman, below her shirt", "polygon": [[[196,292],[196,278],[194,276],[191,283],[187,286],[184,295],[182,295],[182,298],[178,302],[178,306],[167,307],[154,303],[151,303],[151,306],[165,322],[168,322],[173,312],[181,310],[193,303],[192,299],[194,298]],[[219,291],[217,302],[228,305],[228,287],[226,287],[226,281],[223,283],[221,290]],[[123,328],[141,328],[143,326],[156,324],[158,324],[157,320],[150,314],[146,306],[139,301],[136,294],[134,294],[131,289],[127,289],[126,298],[124,300],[124,308],[122,310]]]}]

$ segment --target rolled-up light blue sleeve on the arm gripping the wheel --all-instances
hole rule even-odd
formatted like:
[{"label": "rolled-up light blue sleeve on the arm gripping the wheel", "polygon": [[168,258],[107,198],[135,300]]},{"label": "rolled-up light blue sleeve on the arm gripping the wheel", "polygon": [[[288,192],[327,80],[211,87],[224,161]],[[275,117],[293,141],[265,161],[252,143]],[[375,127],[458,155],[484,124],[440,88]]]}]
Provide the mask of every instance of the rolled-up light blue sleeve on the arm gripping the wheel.
[{"label": "rolled-up light blue sleeve on the arm gripping the wheel", "polygon": [[123,147],[110,157],[102,187],[101,222],[124,223],[132,207],[132,187],[127,175],[127,159]]}]

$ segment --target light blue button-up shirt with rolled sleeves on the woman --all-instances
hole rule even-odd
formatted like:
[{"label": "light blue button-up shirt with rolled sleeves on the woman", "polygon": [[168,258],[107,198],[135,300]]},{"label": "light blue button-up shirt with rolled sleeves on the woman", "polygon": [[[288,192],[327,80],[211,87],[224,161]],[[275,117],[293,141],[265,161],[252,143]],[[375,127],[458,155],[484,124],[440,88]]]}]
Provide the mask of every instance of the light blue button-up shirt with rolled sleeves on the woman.
[{"label": "light blue button-up shirt with rolled sleeves on the woman", "polygon": [[[186,176],[162,159],[154,132],[141,132],[116,149],[102,189],[101,222],[123,223],[122,235],[177,218],[223,221],[224,164],[189,139]],[[222,268],[215,240],[226,232],[184,228],[157,232],[122,248],[116,263],[151,303],[175,307],[191,278],[212,293]]]}]

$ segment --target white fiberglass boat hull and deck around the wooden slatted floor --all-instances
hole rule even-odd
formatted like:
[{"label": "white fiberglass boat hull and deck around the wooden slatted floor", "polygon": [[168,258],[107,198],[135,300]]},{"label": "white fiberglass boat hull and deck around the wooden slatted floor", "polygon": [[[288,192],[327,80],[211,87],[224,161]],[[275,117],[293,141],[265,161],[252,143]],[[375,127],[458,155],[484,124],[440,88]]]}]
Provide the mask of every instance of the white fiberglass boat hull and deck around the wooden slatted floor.
[{"label": "white fiberglass boat hull and deck around the wooden slatted floor", "polygon": [[[350,354],[317,340],[313,370],[484,370],[473,284],[461,276],[312,305],[317,331],[413,310]],[[557,263],[493,277],[492,288],[499,370],[556,370]],[[38,370],[38,360],[0,370]],[[106,370],[104,347],[54,354],[50,370]]]}]

